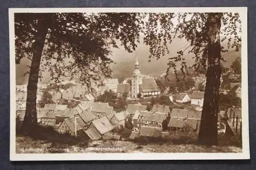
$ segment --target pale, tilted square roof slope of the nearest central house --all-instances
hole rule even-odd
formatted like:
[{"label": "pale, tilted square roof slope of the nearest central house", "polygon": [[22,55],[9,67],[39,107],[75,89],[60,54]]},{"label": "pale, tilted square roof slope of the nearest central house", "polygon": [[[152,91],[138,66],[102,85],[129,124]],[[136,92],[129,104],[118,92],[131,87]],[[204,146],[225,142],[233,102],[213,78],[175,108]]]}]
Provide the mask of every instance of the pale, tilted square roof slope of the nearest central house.
[{"label": "pale, tilted square roof slope of the nearest central house", "polygon": [[110,120],[106,116],[94,120],[92,124],[102,135],[114,129],[114,126],[110,123]]}]

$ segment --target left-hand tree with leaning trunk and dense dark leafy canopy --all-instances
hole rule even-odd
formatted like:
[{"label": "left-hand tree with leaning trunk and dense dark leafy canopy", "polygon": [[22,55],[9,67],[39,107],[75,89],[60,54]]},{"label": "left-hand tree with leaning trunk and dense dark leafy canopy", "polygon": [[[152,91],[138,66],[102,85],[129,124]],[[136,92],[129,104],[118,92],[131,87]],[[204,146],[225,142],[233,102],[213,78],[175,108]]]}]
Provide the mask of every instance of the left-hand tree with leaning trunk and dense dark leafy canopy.
[{"label": "left-hand tree with leaning trunk and dense dark leafy canopy", "polygon": [[22,129],[37,124],[36,91],[42,71],[48,70],[51,84],[61,78],[78,77],[88,87],[110,77],[110,47],[121,42],[135,50],[139,40],[135,13],[15,13],[15,58],[31,60],[26,114]]}]

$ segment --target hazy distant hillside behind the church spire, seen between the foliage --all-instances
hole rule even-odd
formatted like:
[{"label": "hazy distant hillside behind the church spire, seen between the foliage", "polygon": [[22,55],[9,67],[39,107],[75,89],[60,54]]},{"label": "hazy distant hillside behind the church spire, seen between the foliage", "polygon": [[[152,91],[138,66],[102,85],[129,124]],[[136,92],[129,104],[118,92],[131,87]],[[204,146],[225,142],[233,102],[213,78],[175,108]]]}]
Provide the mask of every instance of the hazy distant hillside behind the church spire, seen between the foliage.
[{"label": "hazy distant hillside behind the church spire, seen between the foliage", "polygon": [[[142,74],[151,75],[154,77],[160,77],[167,69],[168,58],[176,55],[177,50],[181,50],[187,44],[185,39],[174,39],[172,44],[169,44],[170,54],[161,57],[159,60],[151,59],[151,62],[148,62],[148,46],[144,44],[139,44],[136,48],[136,51],[133,53],[128,53],[124,51],[123,47],[112,49],[111,58],[114,60],[114,64],[111,65],[113,70],[113,78],[130,78],[134,70],[134,63],[136,61],[136,56],[138,56],[138,61],[140,64],[140,71]],[[192,65],[194,63],[193,54],[184,53],[185,60],[187,65]],[[226,62],[222,64],[227,67],[237,58],[241,57],[241,49],[236,52],[235,50],[230,50],[229,52],[223,54],[223,58]],[[29,70],[26,65],[30,65],[31,61],[28,59],[23,59],[22,62],[16,65],[16,84],[25,84],[28,82],[28,75],[23,76],[26,71]],[[177,68],[180,68],[180,65],[177,64]],[[50,80],[49,73],[44,72],[44,78],[41,83],[47,84]]]}]

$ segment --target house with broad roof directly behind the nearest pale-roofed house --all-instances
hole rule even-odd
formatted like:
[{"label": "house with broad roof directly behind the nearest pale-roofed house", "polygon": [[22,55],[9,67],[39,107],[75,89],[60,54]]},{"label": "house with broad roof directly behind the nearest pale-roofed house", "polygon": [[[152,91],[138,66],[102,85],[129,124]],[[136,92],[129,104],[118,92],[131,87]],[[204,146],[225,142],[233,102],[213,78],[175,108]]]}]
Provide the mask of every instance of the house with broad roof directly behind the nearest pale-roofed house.
[{"label": "house with broad roof directly behind the nearest pale-roofed house", "polygon": [[109,106],[109,103],[94,102],[92,106],[92,112],[96,114],[99,118],[112,114],[113,107]]}]

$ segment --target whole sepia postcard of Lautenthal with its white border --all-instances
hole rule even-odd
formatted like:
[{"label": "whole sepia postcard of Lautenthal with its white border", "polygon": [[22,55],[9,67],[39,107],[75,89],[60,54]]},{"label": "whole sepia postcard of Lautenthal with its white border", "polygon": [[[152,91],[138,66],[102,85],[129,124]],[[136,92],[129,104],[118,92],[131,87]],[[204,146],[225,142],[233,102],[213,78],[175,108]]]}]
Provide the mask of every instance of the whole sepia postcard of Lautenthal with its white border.
[{"label": "whole sepia postcard of Lautenthal with its white border", "polygon": [[249,159],[247,8],[13,8],[10,160]]}]

